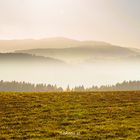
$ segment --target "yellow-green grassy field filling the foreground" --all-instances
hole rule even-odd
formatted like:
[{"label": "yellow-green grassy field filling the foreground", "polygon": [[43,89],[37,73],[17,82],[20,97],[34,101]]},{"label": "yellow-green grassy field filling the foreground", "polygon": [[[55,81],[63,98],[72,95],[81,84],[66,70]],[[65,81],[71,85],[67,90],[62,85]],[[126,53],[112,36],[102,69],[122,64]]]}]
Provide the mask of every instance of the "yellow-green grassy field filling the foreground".
[{"label": "yellow-green grassy field filling the foreground", "polygon": [[0,140],[140,140],[140,92],[0,93]]}]

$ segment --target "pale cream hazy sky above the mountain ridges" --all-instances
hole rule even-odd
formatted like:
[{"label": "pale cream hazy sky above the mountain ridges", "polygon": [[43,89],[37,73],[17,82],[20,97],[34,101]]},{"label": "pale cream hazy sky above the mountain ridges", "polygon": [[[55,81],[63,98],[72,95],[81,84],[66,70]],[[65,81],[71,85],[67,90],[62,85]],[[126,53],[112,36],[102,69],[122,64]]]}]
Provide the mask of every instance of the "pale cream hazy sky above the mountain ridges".
[{"label": "pale cream hazy sky above the mountain ridges", "polygon": [[0,39],[57,36],[140,48],[140,0],[0,0]]}]

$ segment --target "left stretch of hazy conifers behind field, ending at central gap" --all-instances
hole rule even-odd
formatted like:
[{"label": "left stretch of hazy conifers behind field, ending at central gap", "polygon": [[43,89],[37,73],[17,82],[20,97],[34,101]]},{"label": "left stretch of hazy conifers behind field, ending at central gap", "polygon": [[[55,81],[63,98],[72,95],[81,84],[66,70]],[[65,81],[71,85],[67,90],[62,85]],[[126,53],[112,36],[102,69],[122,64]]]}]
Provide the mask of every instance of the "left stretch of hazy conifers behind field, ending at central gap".
[{"label": "left stretch of hazy conifers behind field, ending at central gap", "polygon": [[56,85],[46,85],[46,84],[31,84],[25,82],[4,82],[0,81],[0,91],[15,91],[15,92],[62,92],[61,87]]}]

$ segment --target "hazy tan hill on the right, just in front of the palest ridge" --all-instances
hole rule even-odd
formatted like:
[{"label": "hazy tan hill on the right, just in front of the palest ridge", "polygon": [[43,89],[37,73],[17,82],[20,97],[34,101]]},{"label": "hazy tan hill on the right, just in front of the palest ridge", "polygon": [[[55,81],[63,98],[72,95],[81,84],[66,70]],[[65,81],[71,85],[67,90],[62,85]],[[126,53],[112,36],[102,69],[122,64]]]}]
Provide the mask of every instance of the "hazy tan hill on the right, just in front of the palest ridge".
[{"label": "hazy tan hill on the right, just in front of the palest ridge", "polygon": [[45,57],[53,57],[68,62],[87,62],[94,60],[117,60],[130,56],[137,56],[140,53],[113,45],[82,45],[70,48],[42,48],[16,51]]}]

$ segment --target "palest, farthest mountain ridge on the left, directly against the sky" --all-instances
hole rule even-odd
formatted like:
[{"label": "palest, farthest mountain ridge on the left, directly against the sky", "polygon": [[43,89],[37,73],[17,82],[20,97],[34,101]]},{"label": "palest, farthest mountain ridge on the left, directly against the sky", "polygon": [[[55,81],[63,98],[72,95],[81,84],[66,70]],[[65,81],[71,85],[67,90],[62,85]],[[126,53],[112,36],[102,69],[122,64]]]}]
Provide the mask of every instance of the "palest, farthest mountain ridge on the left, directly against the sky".
[{"label": "palest, farthest mountain ridge on the left, directly against the sky", "polygon": [[0,52],[40,48],[69,48],[81,45],[110,45],[99,41],[78,41],[63,37],[47,39],[0,40]]}]

